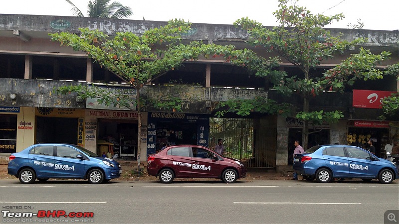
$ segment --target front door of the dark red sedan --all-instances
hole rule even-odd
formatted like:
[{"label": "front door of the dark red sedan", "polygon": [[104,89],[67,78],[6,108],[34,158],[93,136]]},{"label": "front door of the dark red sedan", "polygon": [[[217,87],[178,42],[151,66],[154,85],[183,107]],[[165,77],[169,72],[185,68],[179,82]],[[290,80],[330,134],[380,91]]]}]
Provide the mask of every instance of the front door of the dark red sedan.
[{"label": "front door of the dark red sedan", "polygon": [[193,177],[217,178],[221,174],[220,162],[213,159],[213,152],[201,147],[191,149]]}]

